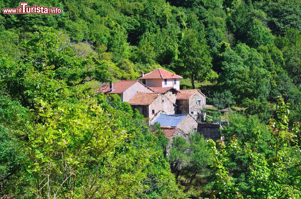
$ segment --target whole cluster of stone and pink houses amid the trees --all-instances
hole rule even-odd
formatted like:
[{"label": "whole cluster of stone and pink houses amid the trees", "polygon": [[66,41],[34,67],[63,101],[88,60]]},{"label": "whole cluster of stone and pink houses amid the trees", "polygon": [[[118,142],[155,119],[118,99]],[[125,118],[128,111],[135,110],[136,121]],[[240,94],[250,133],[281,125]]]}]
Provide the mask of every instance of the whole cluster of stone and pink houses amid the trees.
[{"label": "whole cluster of stone and pink houses amid the trees", "polygon": [[[206,96],[199,89],[181,90],[182,77],[164,69],[144,74],[138,80],[103,84],[95,93],[118,94],[132,109],[149,118],[150,126],[158,122],[166,138],[199,132],[206,138],[220,139],[220,124],[206,120]],[[168,151],[168,150],[167,150]]]}]

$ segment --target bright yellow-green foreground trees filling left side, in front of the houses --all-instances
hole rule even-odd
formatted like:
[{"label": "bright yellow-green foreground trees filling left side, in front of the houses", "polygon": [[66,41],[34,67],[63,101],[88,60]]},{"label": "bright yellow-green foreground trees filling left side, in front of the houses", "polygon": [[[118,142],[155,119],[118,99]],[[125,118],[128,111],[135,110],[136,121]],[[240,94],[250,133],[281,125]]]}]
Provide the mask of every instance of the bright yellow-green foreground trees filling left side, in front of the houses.
[{"label": "bright yellow-green foreground trees filling left side, in front of the houses", "polygon": [[104,61],[81,56],[49,28],[20,49],[0,58],[1,197],[189,196],[143,116],[85,86],[111,79]]}]

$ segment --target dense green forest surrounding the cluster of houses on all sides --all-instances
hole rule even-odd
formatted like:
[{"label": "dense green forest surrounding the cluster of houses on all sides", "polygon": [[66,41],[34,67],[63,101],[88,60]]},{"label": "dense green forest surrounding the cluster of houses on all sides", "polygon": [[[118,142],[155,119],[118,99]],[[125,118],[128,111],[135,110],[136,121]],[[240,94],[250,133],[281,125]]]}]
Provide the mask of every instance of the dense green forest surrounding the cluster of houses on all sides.
[{"label": "dense green forest surrounding the cluster of houses on all sides", "polygon": [[[301,198],[301,1],[28,3],[63,12],[0,15],[1,198]],[[166,157],[160,128],[93,92],[157,68],[232,108],[225,142]]]}]

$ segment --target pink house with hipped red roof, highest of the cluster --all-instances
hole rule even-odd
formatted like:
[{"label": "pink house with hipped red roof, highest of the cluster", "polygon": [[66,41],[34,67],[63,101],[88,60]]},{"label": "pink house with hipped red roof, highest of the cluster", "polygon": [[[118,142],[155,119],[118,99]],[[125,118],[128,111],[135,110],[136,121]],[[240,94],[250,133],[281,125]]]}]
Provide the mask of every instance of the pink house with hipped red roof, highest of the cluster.
[{"label": "pink house with hipped red roof, highest of the cluster", "polygon": [[179,90],[182,77],[159,68],[146,75],[142,72],[138,79],[148,87],[173,87]]}]

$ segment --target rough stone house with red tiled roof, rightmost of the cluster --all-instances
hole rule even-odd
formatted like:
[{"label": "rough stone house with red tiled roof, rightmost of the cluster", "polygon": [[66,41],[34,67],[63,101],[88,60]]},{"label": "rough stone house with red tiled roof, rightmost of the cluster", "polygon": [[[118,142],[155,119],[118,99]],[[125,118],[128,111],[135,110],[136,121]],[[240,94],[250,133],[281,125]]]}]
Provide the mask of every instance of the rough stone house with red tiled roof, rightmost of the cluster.
[{"label": "rough stone house with red tiled roof, rightmost of the cluster", "polygon": [[178,114],[189,114],[201,121],[206,119],[206,113],[200,112],[200,109],[205,108],[206,96],[198,89],[179,90],[176,105]]}]

